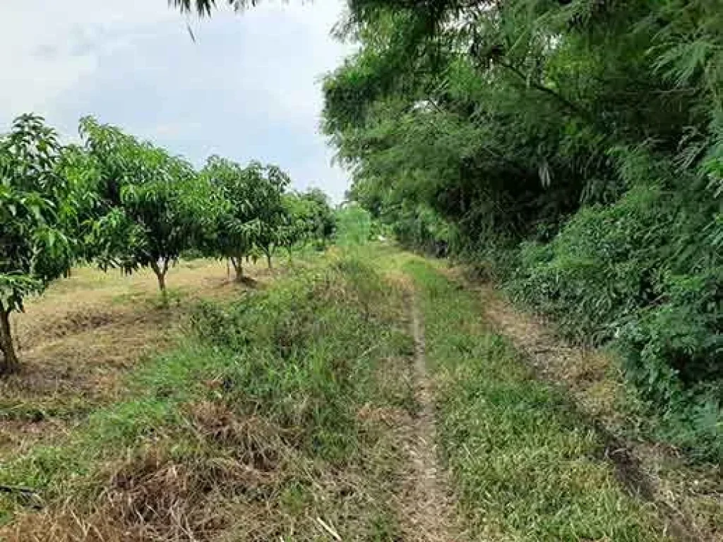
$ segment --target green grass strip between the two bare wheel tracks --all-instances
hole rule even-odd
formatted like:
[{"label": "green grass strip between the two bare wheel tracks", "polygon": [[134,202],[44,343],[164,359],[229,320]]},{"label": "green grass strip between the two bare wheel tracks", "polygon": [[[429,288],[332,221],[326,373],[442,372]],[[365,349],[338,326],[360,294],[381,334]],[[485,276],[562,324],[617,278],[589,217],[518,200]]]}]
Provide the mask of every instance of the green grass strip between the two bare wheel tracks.
[{"label": "green grass strip between the two bare wheel tracks", "polygon": [[471,538],[666,540],[568,397],[487,329],[474,292],[424,262],[406,269],[421,294],[440,447]]}]

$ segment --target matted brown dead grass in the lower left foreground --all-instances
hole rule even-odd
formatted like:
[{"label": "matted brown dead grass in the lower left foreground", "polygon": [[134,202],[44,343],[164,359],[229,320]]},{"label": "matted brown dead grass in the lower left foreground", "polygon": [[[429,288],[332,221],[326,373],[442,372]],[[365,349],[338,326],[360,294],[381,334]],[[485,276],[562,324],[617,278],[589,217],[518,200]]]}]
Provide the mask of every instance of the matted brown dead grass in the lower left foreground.
[{"label": "matted brown dead grass in the lower left foreground", "polygon": [[188,410],[197,449],[178,457],[169,440],[137,450],[100,473],[106,482],[92,502],[81,494],[40,514],[28,512],[4,531],[7,540],[205,541],[240,517],[246,527],[259,519],[244,530],[252,533],[244,540],[266,539],[260,535],[269,525],[261,519],[265,507],[248,496],[273,494],[283,482],[280,463],[291,453],[283,431],[261,418],[241,421],[219,403]]}]

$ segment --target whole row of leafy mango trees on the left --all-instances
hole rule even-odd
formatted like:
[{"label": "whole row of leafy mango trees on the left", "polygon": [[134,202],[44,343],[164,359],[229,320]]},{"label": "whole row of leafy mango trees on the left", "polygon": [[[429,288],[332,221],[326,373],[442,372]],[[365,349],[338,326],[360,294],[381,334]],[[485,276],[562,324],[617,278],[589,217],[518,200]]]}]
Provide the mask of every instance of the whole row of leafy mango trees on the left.
[{"label": "whole row of leafy mango trees on the left", "polygon": [[335,216],[323,192],[288,190],[275,165],[218,156],[197,171],[183,158],[91,117],[79,145],[61,145],[38,116],[0,137],[0,374],[17,370],[9,315],[74,264],[166,273],[183,254],[244,259],[322,248]]}]

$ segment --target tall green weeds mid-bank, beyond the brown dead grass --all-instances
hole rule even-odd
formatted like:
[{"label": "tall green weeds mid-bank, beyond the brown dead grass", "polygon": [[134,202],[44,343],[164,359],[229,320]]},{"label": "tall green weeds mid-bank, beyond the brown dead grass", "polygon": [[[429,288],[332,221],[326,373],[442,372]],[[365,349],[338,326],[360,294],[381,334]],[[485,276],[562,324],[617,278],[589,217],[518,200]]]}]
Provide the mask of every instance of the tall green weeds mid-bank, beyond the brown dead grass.
[{"label": "tall green weeds mid-bank, beyond the brown dead grass", "polygon": [[201,304],[192,322],[238,356],[217,379],[229,402],[248,410],[239,413],[262,414],[335,459],[355,445],[355,403],[364,403],[375,344],[398,344],[383,312],[388,295],[369,265],[341,259],[231,306]]}]

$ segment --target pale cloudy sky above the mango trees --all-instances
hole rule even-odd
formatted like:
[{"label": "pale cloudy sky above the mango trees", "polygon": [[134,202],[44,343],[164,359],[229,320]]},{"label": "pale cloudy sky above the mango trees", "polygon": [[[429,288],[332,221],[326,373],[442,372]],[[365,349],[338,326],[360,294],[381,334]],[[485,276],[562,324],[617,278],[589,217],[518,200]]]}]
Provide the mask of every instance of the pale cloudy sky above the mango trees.
[{"label": "pale cloudy sky above the mango trees", "polygon": [[348,175],[319,124],[320,77],[353,51],[330,36],[342,10],[270,0],[199,20],[166,0],[2,0],[0,132],[34,112],[72,140],[90,114],[198,166],[275,163],[340,202]]}]

